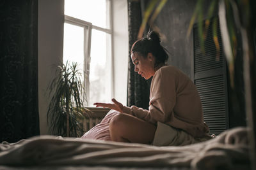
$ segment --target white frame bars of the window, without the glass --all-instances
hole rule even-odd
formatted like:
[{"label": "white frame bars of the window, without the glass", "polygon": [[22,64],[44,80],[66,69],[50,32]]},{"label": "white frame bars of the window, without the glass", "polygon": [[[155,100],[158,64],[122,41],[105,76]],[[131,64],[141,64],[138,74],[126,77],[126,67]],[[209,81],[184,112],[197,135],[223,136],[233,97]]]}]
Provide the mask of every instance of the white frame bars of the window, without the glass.
[{"label": "white frame bars of the window, without the glass", "polygon": [[92,41],[92,29],[95,29],[97,31],[102,31],[105,33],[110,34],[111,37],[111,96],[109,97],[113,97],[114,96],[114,83],[113,83],[113,78],[114,78],[114,70],[113,70],[113,29],[112,29],[112,11],[111,11],[111,2],[112,0],[108,0],[106,1],[106,8],[109,9],[107,15],[107,19],[109,19],[109,21],[107,20],[107,22],[109,23],[109,29],[103,28],[103,27],[98,27],[96,25],[93,25],[90,22],[86,22],[84,20],[80,20],[78,18],[74,18],[74,17],[70,17],[68,15],[64,15],[65,19],[64,22],[67,24],[72,24],[72,25],[77,25],[79,27],[83,27],[84,29],[84,66],[83,66],[83,71],[84,71],[84,90],[86,92],[86,103],[90,103],[90,60],[91,60],[91,41]]}]

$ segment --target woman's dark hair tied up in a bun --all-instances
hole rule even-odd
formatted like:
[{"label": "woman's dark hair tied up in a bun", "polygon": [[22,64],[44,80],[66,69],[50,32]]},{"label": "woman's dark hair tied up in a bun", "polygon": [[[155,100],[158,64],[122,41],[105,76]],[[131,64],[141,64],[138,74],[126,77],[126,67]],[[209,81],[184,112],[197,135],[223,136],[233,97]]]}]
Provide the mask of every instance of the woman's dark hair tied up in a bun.
[{"label": "woman's dark hair tied up in a bun", "polygon": [[156,31],[150,31],[146,37],[135,41],[131,48],[131,53],[134,52],[140,53],[144,58],[148,53],[152,53],[156,58],[155,67],[168,60],[168,51],[161,45],[159,34]]}]

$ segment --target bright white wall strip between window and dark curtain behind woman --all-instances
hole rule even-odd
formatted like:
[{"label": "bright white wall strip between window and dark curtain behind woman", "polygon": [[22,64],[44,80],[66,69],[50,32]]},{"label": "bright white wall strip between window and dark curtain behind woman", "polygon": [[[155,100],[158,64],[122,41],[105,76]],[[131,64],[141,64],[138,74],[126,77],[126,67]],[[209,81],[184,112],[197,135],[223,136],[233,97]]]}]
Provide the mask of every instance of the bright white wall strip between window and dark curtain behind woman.
[{"label": "bright white wall strip between window and dark curtain behind woman", "polygon": [[127,0],[112,1],[114,94],[117,101],[126,105],[129,59]]}]

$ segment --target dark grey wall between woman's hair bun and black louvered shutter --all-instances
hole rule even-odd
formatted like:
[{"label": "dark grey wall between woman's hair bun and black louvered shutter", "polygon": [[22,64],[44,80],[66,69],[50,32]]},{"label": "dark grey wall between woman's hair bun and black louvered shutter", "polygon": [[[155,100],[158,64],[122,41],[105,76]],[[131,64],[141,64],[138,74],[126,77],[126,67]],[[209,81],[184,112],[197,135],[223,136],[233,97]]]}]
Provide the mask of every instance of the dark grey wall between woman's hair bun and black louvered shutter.
[{"label": "dark grey wall between woman's hair bun and black louvered shutter", "polygon": [[163,46],[170,52],[168,64],[179,67],[193,79],[193,39],[186,37],[195,7],[194,0],[169,0],[154,22],[164,35]]}]

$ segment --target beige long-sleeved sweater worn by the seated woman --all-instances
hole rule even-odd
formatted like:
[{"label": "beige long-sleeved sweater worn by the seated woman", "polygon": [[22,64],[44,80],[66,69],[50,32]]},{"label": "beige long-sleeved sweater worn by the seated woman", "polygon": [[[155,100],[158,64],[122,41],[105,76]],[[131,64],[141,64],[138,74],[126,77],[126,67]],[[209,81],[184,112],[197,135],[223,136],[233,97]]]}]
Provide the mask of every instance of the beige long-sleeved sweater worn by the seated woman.
[{"label": "beige long-sleeved sweater worn by the seated woman", "polygon": [[196,86],[174,66],[163,66],[154,74],[148,110],[125,106],[123,112],[152,124],[162,122],[183,129],[196,138],[209,132]]}]

